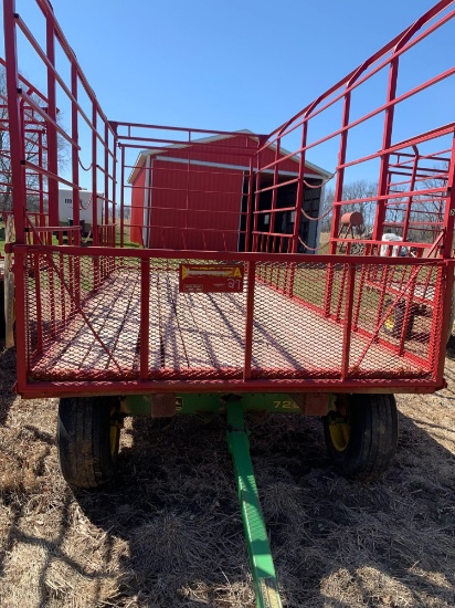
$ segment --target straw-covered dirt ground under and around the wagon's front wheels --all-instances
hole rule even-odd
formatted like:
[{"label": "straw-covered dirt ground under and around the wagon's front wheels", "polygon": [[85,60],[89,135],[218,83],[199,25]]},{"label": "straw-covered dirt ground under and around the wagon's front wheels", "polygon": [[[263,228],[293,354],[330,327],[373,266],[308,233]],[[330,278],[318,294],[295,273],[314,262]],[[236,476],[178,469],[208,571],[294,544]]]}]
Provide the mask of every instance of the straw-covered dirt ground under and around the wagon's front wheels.
[{"label": "straw-covered dirt ground under and around the wagon's front wheels", "polygon": [[[0,606],[255,606],[223,420],[127,421],[115,481],[75,495],[56,401],[14,398],[13,353],[0,366]],[[252,424],[286,607],[455,606],[449,358],[446,377],[437,395],[399,397],[398,455],[369,485],[334,472],[319,420]]]}]

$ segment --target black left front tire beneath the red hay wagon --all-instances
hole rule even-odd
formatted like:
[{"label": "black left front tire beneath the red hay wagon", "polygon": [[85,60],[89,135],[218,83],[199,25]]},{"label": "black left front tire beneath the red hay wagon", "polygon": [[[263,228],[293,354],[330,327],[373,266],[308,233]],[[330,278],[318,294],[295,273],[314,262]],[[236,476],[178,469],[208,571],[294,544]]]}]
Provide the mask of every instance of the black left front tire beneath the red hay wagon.
[{"label": "black left front tire beneath the red hay wagon", "polygon": [[89,490],[113,478],[120,439],[115,419],[117,406],[118,398],[113,397],[60,399],[57,451],[68,485]]}]

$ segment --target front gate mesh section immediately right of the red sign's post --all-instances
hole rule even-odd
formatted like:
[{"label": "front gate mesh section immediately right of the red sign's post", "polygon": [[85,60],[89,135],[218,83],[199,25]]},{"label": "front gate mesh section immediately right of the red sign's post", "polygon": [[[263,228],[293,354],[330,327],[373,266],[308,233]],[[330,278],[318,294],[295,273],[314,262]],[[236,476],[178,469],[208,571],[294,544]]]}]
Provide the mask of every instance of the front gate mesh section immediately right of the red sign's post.
[{"label": "front gate mesh section immediately right of the red sign's post", "polygon": [[338,378],[342,331],[324,316],[327,266],[263,263],[256,276],[252,376]]}]

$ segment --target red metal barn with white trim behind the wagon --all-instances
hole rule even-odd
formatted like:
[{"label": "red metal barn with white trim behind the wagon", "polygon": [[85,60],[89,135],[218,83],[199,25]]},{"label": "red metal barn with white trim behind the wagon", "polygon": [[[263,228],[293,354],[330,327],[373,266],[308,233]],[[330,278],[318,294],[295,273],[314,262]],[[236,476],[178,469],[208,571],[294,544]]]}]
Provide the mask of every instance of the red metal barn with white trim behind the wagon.
[{"label": "red metal barn with white trim behind the wagon", "polygon": [[[258,138],[248,130],[219,135],[144,150],[129,176],[131,185],[130,240],[154,249],[244,251],[247,228],[247,192],[250,158],[257,150]],[[275,160],[276,148],[261,153],[261,166]],[[289,153],[282,150],[282,158]],[[276,208],[273,230],[292,233],[299,158],[279,161]],[[310,163],[305,166],[304,209],[318,217],[324,199],[324,180],[329,174]],[[261,171],[263,190],[258,209],[272,207],[274,170]],[[292,184],[286,185],[286,181]],[[250,222],[252,229],[253,221]],[[269,230],[269,214],[258,216],[257,230]],[[319,237],[317,221],[305,217],[300,223],[300,240],[315,248]],[[306,248],[301,248],[301,251]]]}]

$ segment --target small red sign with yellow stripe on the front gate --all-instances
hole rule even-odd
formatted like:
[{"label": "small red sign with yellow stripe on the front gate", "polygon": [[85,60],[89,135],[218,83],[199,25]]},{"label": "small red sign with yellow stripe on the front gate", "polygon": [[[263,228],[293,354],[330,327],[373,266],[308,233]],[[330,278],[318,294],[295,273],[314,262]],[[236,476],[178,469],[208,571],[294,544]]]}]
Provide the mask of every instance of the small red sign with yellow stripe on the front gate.
[{"label": "small red sign with yellow stripe on the front gate", "polygon": [[243,292],[243,264],[180,264],[179,290],[187,293]]}]

